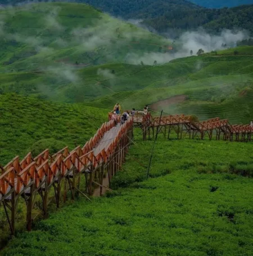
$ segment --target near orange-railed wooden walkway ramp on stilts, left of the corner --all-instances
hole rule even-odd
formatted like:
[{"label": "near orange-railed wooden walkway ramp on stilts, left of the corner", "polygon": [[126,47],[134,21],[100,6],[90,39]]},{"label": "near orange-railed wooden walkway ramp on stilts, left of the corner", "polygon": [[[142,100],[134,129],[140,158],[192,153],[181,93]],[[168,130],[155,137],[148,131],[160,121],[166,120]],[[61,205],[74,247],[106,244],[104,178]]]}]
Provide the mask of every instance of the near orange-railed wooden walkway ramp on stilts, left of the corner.
[{"label": "near orange-railed wooden walkway ramp on stilts, left of the corner", "polygon": [[[119,119],[118,119],[119,121]],[[103,123],[97,133],[83,147],[73,151],[63,148],[54,155],[46,149],[37,157],[28,155],[21,161],[19,156],[1,167],[0,206],[3,207],[11,234],[15,234],[17,204],[20,200],[26,205],[26,227],[30,231],[32,210],[37,196],[42,199],[43,214],[47,217],[47,208],[53,189],[56,207],[60,201],[66,201],[67,192],[74,200],[76,195],[92,195],[94,187],[111,189],[103,184],[104,176],[109,185],[112,176],[120,170],[130,143],[133,139],[133,118],[124,125],[115,126],[113,121]],[[80,182],[84,178],[83,184]],[[63,195],[62,195],[63,194]]]}]

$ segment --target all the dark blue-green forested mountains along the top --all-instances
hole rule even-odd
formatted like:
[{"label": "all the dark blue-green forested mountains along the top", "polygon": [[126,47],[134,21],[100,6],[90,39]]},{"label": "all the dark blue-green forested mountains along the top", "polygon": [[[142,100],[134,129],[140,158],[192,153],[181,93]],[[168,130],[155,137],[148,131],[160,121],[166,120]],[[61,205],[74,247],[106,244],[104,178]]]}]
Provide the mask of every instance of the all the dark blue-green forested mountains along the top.
[{"label": "all the dark blue-green forested mountains along the top", "polygon": [[[24,1],[0,0],[0,4],[3,5],[20,2]],[[204,27],[207,32],[213,34],[223,29],[246,29],[251,35],[253,34],[253,5],[211,9],[186,0],[76,0],[75,2],[88,3],[97,10],[116,17],[138,21],[139,25],[155,29],[158,33],[169,33],[170,37],[175,38],[186,30],[194,30],[198,27]],[[205,1],[195,0],[195,2],[200,5]]]}]

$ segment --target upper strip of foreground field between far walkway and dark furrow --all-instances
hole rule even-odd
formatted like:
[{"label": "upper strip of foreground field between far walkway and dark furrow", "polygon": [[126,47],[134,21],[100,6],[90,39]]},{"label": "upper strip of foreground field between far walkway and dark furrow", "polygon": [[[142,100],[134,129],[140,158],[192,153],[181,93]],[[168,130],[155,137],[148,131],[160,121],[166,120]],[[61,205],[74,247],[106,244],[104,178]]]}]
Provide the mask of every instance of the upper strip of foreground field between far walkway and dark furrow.
[{"label": "upper strip of foreground field between far walkway and dark furrow", "polygon": [[[112,180],[112,187],[115,189],[128,187],[134,182],[142,182],[146,179],[153,141],[141,142],[139,131],[135,133],[135,139],[140,139],[130,148],[126,164],[123,166],[124,171],[119,172]],[[166,141],[162,135],[159,135],[155,154],[152,157],[150,176],[154,178],[174,170],[189,169],[194,169],[198,173],[235,173],[252,176],[251,149],[251,143],[209,141],[207,138]],[[140,162],[142,165],[139,164]],[[241,166],[244,172],[241,173],[238,166]]]}]

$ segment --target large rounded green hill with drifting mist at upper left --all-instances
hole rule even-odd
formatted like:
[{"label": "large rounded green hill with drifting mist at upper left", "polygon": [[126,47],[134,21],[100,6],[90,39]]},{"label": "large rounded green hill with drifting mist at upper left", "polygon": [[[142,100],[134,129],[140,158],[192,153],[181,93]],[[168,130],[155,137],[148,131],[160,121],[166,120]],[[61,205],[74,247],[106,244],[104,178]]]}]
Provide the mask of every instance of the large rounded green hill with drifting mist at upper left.
[{"label": "large rounded green hill with drifting mist at upper left", "polygon": [[[47,73],[61,66],[78,68],[122,62],[129,52],[158,51],[160,45],[170,43],[77,3],[34,3],[6,8],[0,10],[0,20],[0,72]],[[141,44],[136,43],[139,40]]]}]

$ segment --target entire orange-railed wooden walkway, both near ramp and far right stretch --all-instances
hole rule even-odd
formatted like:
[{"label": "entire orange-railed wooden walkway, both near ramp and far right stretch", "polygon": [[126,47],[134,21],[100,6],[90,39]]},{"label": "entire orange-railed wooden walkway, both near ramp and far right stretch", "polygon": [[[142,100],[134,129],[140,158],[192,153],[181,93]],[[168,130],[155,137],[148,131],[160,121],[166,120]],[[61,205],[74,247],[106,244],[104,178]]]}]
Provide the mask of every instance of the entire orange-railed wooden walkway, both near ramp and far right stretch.
[{"label": "entire orange-railed wooden walkway, both near ramp and far right stretch", "polygon": [[[250,125],[230,125],[228,120],[212,118],[210,120],[195,122],[192,116],[184,114],[152,117],[136,112],[124,125],[115,126],[111,120],[112,112],[109,113],[109,121],[103,123],[97,133],[83,147],[76,147],[73,151],[63,148],[61,151],[50,155],[48,149],[37,157],[28,153],[20,161],[16,156],[6,166],[1,167],[0,176],[0,206],[4,212],[12,235],[15,233],[15,220],[17,204],[23,200],[26,205],[26,225],[31,230],[32,210],[35,198],[42,198],[43,214],[47,216],[47,207],[55,197],[56,207],[60,206],[60,199],[66,201],[67,192],[71,198],[82,194],[88,200],[92,195],[94,184],[102,189],[110,189],[112,176],[120,169],[124,162],[129,145],[133,140],[133,127],[140,127],[143,131],[143,139],[146,140],[157,133],[170,138],[171,131],[175,131],[177,138],[183,136],[189,138],[209,139],[216,135],[216,139],[223,136],[224,140],[236,140],[242,142],[251,141],[253,128]],[[85,180],[85,191],[80,190],[81,177]],[[103,184],[103,178],[109,181],[109,187]],[[62,189],[63,186],[63,189]],[[63,193],[61,197],[61,193]]]}]

